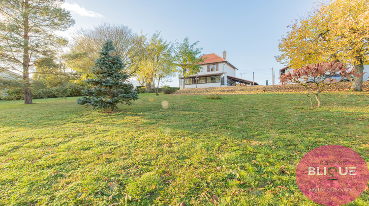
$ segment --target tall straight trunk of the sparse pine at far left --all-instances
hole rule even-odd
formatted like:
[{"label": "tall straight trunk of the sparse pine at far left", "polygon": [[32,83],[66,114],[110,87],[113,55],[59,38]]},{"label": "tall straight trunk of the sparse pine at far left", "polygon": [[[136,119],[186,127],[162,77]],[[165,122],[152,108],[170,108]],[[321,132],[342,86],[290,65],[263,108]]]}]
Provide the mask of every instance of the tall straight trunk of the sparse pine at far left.
[{"label": "tall straight trunk of the sparse pine at far left", "polygon": [[23,16],[24,24],[23,24],[23,79],[26,81],[26,88],[23,89],[24,92],[24,103],[25,104],[31,104],[32,103],[32,97],[31,97],[31,90],[30,90],[30,53],[29,53],[29,41],[30,37],[28,35],[29,32],[29,0],[24,1],[25,6],[25,12]]}]

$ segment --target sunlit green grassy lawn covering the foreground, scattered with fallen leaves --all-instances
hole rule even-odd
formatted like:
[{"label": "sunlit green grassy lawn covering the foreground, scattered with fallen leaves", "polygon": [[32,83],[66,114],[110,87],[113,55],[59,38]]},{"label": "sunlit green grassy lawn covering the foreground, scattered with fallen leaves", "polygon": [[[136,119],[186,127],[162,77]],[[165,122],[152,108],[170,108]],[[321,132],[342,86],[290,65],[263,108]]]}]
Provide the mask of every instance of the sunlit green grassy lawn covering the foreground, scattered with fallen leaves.
[{"label": "sunlit green grassy lawn covering the foreground, scattered with fallen leaves", "polygon": [[0,205],[315,205],[295,179],[304,154],[338,144],[369,162],[368,93],[321,108],[303,94],[140,98],[116,114],[0,102]]}]

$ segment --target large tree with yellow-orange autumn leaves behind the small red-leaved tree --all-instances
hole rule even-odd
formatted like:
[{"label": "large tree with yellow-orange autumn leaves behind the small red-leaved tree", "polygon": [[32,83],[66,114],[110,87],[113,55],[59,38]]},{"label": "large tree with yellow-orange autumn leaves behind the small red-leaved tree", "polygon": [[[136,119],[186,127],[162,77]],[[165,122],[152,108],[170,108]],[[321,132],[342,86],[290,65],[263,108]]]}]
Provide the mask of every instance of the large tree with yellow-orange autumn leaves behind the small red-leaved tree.
[{"label": "large tree with yellow-orange autumn leaves behind the small red-leaved tree", "polygon": [[[362,74],[369,63],[369,0],[331,0],[296,20],[283,36],[276,56],[291,68],[335,61]],[[362,91],[363,76],[354,76],[352,90]]]}]

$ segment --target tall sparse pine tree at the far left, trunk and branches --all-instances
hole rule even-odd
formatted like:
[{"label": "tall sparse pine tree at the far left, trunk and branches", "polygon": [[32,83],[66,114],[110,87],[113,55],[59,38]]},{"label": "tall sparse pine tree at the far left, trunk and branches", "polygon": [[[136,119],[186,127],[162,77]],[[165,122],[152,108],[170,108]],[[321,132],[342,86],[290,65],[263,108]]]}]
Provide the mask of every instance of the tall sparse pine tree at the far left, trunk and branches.
[{"label": "tall sparse pine tree at the far left, trunk and branches", "polygon": [[67,39],[55,31],[74,25],[64,0],[0,0],[0,71],[23,74],[24,102],[32,103],[31,78],[35,60],[58,53]]}]

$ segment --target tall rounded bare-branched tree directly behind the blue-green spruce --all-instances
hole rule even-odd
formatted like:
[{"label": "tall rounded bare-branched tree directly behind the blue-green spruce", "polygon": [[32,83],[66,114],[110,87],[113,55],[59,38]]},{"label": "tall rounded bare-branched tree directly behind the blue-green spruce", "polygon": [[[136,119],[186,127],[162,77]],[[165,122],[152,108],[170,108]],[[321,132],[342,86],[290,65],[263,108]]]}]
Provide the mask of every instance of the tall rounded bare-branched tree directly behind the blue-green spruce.
[{"label": "tall rounded bare-branched tree directly behind the blue-green spruce", "polygon": [[124,72],[132,75],[135,71],[132,65],[137,60],[145,43],[145,36],[136,34],[128,26],[104,23],[93,28],[80,28],[72,36],[69,48],[71,58],[67,61],[70,68],[89,74],[93,61],[98,57],[99,49],[109,39],[113,42],[118,55],[125,63]]}]

